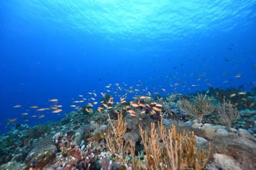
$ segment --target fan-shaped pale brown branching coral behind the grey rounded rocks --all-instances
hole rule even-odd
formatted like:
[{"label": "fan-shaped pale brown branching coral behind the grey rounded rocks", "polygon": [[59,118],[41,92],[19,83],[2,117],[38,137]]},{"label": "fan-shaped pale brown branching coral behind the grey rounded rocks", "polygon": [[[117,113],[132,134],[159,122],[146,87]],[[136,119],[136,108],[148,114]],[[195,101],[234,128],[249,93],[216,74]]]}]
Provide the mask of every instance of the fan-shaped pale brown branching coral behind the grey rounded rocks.
[{"label": "fan-shaped pale brown branching coral behind the grey rounded rocks", "polygon": [[181,98],[179,101],[179,108],[186,114],[196,117],[198,122],[202,122],[202,117],[214,112],[215,109],[214,104],[212,103],[212,98],[201,94],[198,94],[192,102]]}]

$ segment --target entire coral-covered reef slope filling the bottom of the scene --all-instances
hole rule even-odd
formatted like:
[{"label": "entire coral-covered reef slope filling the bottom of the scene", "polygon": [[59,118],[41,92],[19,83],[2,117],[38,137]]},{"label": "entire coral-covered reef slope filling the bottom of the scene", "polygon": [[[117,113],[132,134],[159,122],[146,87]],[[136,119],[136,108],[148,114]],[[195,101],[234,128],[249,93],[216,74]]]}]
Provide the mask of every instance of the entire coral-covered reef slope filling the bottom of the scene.
[{"label": "entire coral-covered reef slope filling the bottom of the scene", "polygon": [[215,89],[137,96],[137,107],[126,101],[56,123],[17,124],[0,136],[0,169],[256,169],[255,106],[241,98],[255,102],[254,92],[227,91],[218,92],[224,102]]}]

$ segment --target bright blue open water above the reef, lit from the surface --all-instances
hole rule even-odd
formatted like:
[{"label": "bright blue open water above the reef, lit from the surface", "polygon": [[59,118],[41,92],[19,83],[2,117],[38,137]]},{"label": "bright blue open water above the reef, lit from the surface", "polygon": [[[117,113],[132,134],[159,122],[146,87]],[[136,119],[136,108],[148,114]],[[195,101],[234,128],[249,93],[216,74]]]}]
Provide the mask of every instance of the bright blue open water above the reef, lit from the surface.
[{"label": "bright blue open water above the reef, lit from the surface", "polygon": [[256,1],[2,0],[1,129],[9,118],[24,123],[22,113],[39,116],[30,106],[49,107],[49,99],[63,112],[25,123],[58,120],[79,95],[95,91],[99,101],[110,83],[162,95],[207,83],[253,88],[255,30]]}]

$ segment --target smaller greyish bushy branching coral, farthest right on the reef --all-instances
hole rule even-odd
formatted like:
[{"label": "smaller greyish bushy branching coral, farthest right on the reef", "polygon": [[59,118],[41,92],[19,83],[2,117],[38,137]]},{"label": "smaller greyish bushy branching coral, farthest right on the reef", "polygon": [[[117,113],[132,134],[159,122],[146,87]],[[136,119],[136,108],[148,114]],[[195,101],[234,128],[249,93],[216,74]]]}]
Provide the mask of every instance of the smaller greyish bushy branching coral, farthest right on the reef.
[{"label": "smaller greyish bushy branching coral, farthest right on the reef", "polygon": [[240,118],[239,112],[236,107],[233,107],[230,102],[227,103],[225,99],[223,103],[218,103],[217,113],[218,121],[222,123],[222,125],[227,126],[228,128],[231,128],[233,120]]}]

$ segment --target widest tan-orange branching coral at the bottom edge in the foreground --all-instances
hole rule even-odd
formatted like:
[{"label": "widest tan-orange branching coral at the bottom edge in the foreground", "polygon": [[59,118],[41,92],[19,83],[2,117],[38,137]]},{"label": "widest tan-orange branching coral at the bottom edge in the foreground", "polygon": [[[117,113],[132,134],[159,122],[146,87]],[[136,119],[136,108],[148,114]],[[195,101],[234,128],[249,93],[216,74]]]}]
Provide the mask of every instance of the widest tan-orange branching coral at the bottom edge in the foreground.
[{"label": "widest tan-orange branching coral at the bottom edge in the foreground", "polygon": [[[159,134],[154,123],[151,123],[150,137],[147,131],[140,128],[144,150],[144,163],[139,162],[143,169],[203,169],[209,160],[212,148],[200,150],[195,147],[196,137],[193,133],[177,133],[174,125],[164,128],[162,121],[158,124]],[[184,140],[185,137],[185,140]],[[159,141],[159,138],[162,141]]]}]

